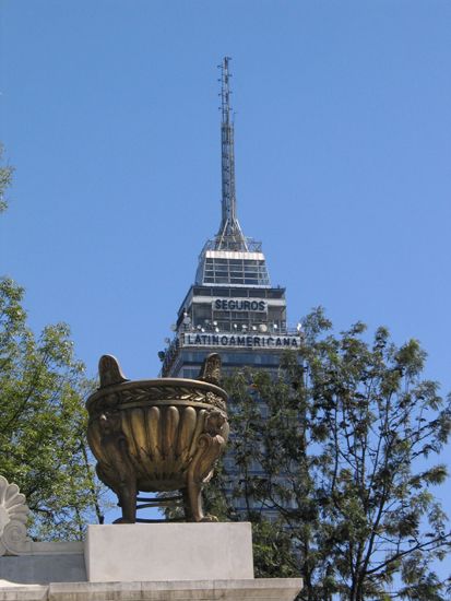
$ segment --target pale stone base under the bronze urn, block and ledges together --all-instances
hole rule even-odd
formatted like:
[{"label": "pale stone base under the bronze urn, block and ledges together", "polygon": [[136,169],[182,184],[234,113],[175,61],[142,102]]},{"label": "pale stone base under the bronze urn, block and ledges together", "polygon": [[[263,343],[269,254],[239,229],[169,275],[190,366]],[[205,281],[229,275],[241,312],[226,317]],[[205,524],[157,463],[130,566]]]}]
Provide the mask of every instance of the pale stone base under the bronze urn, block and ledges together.
[{"label": "pale stone base under the bronze urn, block and ledges together", "polygon": [[302,588],[253,579],[245,522],[90,526],[84,557],[78,543],[40,544],[0,557],[0,601],[293,601]]}]

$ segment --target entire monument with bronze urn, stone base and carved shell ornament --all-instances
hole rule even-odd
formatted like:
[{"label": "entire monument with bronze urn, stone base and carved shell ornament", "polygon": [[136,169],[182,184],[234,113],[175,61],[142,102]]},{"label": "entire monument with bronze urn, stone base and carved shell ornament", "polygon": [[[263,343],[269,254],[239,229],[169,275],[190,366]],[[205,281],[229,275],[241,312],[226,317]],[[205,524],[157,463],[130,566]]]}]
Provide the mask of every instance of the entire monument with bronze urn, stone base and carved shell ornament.
[{"label": "entire monument with bronze urn, stone base and carved shell ornament", "polygon": [[[199,380],[129,381],[109,355],[99,372],[87,435],[122,526],[88,526],[84,542],[32,541],[25,497],[0,476],[0,601],[293,601],[300,578],[253,578],[251,525],[217,523],[202,509],[228,437],[219,357],[207,357]],[[137,509],[162,503],[139,491],[179,491],[192,523],[135,523],[152,521]]]}]

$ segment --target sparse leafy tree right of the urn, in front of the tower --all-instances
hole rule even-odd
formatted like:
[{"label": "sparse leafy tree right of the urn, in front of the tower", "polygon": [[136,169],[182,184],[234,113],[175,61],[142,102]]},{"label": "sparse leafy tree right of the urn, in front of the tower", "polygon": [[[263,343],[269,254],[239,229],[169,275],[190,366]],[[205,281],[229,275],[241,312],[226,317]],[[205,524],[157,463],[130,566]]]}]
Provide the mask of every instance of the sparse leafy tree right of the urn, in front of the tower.
[{"label": "sparse leafy tree right of the urn, in front of the tower", "polygon": [[221,508],[230,488],[242,499],[259,575],[276,571],[278,554],[285,575],[304,577],[299,599],[449,598],[431,563],[451,543],[432,493],[447,478],[432,459],[449,438],[450,398],[422,379],[417,341],[396,346],[379,328],[368,342],[363,323],[330,329],[313,311],[278,380],[238,373],[225,382],[235,468],[210,503]]}]

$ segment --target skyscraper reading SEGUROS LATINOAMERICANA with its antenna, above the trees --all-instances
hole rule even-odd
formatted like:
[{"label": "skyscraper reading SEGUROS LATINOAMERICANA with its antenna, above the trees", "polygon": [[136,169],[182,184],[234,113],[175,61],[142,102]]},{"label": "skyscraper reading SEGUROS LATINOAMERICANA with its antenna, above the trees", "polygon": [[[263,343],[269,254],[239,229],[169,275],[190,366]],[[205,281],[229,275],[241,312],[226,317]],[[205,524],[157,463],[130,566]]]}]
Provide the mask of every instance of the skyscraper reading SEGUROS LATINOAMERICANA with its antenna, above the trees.
[{"label": "skyscraper reading SEGUROS LATINOAMERICANA with its antenna, above the trees", "polygon": [[175,337],[162,352],[163,377],[195,378],[209,353],[225,372],[249,366],[276,374],[281,354],[299,346],[287,327],[285,288],[273,287],[261,243],[244,235],[237,217],[229,58],[221,66],[222,217],[206,241],[195,281],[177,314]]}]

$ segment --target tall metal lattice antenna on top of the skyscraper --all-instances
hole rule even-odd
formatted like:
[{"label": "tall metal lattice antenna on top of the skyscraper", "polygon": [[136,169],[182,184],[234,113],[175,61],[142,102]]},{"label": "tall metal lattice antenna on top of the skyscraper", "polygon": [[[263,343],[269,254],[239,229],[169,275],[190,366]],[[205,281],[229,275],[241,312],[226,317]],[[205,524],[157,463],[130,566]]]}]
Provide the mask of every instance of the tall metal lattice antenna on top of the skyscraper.
[{"label": "tall metal lattice antenna on top of the skyscraper", "polygon": [[246,238],[241,232],[236,214],[235,193],[235,148],[234,122],[230,118],[230,73],[228,62],[224,57],[221,68],[221,156],[222,156],[222,221],[216,235],[216,248],[224,250],[248,250]]}]

